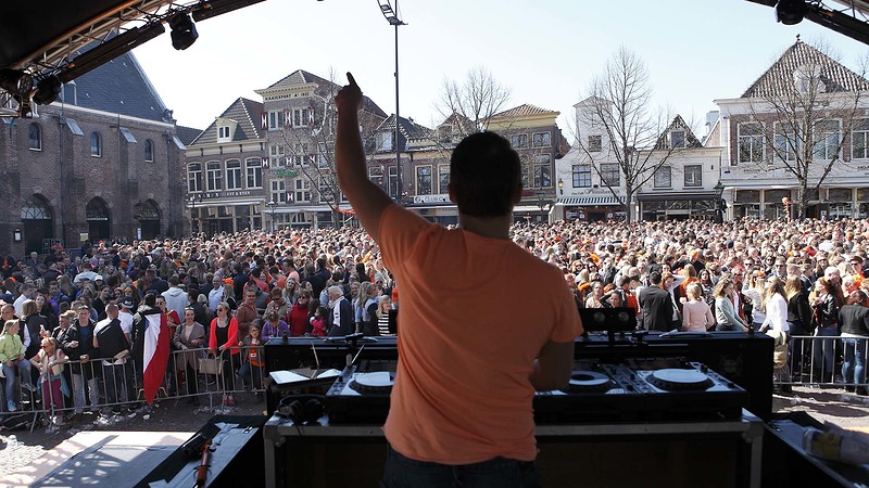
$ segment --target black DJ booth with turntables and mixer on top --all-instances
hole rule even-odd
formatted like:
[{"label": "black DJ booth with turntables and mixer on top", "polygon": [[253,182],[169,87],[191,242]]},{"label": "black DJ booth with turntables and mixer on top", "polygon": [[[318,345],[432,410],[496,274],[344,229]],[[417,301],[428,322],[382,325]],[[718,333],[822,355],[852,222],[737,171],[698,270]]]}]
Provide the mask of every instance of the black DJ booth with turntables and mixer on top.
[{"label": "black DJ booth with turntables and mixer on top", "polygon": [[[534,398],[541,485],[760,486],[772,338],[646,334],[625,309],[583,324],[605,332],[576,341],[567,388]],[[273,338],[265,360],[311,378],[269,388],[266,486],[377,486],[396,338]]]}]

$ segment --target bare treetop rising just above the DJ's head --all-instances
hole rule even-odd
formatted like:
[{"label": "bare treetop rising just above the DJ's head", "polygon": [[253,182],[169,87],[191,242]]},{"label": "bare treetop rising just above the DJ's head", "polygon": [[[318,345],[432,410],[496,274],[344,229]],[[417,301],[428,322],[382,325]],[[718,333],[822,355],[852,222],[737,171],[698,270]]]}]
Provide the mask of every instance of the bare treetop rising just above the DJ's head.
[{"label": "bare treetop rising just above the DJ's head", "polygon": [[468,70],[459,84],[443,79],[440,99],[436,108],[444,119],[455,118],[456,136],[465,137],[471,132],[486,130],[489,118],[499,113],[511,97],[511,89],[495,80],[484,66]]}]

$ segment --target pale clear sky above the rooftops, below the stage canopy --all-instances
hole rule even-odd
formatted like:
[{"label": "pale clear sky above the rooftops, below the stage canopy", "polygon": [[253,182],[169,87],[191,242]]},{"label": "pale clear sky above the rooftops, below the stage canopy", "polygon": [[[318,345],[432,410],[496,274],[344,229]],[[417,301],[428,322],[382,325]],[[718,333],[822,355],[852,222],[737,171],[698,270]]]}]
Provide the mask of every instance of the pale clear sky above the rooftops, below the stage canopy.
[{"label": "pale clear sky above the rooftops, below the stage canopy", "polygon": [[[401,115],[432,127],[444,77],[486,66],[511,87],[509,106],[562,113],[624,44],[650,72],[654,103],[694,120],[715,99],[736,98],[795,41],[826,42],[856,68],[866,44],[808,21],[784,26],[745,0],[400,0]],[[238,97],[260,101],[295,69],[352,72],[387,113],[395,111],[394,28],[375,0],[267,0],[198,24],[175,51],[168,33],[134,53],[180,125],[204,129]],[[167,29],[168,30],[168,29]]]}]

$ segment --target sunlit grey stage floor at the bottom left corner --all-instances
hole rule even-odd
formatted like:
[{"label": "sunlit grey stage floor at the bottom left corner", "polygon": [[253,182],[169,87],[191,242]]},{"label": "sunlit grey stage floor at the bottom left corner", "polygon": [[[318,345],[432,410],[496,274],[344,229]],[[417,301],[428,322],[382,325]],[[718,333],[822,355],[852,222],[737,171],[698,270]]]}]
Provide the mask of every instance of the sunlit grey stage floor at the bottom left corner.
[{"label": "sunlit grey stage floor at the bottom left corner", "polygon": [[[130,486],[190,438],[188,432],[80,432],[3,476],[10,487]],[[135,483],[134,483],[135,484]]]}]

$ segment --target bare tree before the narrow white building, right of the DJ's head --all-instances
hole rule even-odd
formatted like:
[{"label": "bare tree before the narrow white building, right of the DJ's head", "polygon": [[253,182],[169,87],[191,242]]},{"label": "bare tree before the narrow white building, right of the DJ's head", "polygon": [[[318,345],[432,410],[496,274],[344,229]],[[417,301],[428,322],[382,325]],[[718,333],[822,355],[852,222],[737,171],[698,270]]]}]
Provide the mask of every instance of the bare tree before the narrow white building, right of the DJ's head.
[{"label": "bare tree before the narrow white building, right of the DJ's head", "polygon": [[621,204],[627,221],[633,220],[634,193],[676,149],[666,137],[671,117],[651,106],[648,69],[639,55],[621,47],[592,78],[576,111],[576,147]]}]

